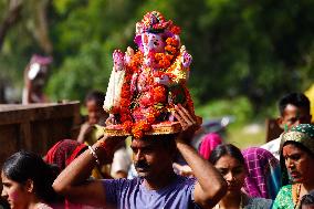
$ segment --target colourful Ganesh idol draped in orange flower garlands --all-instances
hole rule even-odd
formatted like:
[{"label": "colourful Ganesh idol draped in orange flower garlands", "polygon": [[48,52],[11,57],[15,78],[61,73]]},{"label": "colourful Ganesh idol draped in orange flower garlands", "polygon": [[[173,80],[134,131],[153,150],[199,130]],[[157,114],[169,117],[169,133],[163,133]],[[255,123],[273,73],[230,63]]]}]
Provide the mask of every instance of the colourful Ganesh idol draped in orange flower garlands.
[{"label": "colourful Ganesh idol draped in orange flower garlands", "polygon": [[106,132],[115,135],[172,134],[179,123],[172,111],[181,104],[191,114],[187,88],[191,55],[181,45],[180,29],[160,12],[151,11],[136,23],[135,52],[115,50],[104,109]]}]

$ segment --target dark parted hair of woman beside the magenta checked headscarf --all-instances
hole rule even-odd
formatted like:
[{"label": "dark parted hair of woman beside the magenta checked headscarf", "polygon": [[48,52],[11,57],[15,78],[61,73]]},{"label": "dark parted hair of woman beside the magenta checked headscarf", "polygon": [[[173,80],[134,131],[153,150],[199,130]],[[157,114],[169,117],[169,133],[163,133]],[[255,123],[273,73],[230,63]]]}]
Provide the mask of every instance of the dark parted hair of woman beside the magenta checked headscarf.
[{"label": "dark parted hair of woman beside the magenta checked headscarf", "polygon": [[232,144],[218,145],[210,154],[209,161],[214,165],[222,156],[230,155],[245,166],[244,157],[241,150]]}]

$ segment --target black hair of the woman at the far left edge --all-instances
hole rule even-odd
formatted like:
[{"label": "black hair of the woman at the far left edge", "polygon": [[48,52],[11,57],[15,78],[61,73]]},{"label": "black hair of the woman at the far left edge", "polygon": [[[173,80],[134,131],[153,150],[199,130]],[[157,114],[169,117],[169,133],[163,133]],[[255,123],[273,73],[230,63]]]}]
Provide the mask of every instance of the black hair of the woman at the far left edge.
[{"label": "black hair of the woman at the far left edge", "polygon": [[31,179],[35,195],[49,203],[60,200],[52,188],[59,174],[57,168],[44,163],[34,153],[21,150],[11,155],[4,161],[2,173],[7,178],[19,184],[25,184],[28,179]]}]

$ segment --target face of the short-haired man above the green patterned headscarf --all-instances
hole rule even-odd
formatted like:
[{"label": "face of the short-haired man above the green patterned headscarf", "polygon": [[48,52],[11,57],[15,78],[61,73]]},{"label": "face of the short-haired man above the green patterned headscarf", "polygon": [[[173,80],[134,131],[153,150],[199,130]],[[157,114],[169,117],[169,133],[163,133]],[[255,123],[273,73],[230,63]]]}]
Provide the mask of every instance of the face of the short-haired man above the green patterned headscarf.
[{"label": "face of the short-haired man above the green patterned headscarf", "polygon": [[312,116],[305,108],[289,104],[284,108],[283,115],[279,118],[279,124],[282,129],[285,129],[285,127],[290,129],[299,124],[310,124],[311,119]]}]

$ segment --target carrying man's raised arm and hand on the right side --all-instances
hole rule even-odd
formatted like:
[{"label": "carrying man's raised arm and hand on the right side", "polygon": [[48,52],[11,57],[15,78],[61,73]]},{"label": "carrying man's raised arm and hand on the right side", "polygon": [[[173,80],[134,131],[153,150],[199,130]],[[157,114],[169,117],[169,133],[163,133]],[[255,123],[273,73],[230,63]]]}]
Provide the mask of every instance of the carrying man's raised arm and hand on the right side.
[{"label": "carrying man's raised arm and hand on the right side", "polygon": [[227,182],[220,173],[188,143],[197,127],[196,118],[181,105],[176,107],[175,117],[182,126],[182,133],[176,139],[177,148],[197,178],[195,201],[203,208],[212,208],[227,192]]}]

